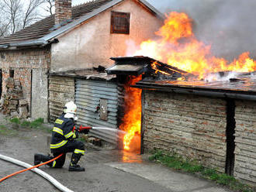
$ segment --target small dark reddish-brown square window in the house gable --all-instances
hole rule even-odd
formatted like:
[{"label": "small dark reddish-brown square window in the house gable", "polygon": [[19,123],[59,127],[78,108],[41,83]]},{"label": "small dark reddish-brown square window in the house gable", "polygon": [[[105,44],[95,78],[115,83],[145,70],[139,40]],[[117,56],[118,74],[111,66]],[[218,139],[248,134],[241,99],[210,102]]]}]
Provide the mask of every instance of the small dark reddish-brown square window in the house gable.
[{"label": "small dark reddish-brown square window in the house gable", "polygon": [[111,33],[130,33],[129,12],[111,12]]}]

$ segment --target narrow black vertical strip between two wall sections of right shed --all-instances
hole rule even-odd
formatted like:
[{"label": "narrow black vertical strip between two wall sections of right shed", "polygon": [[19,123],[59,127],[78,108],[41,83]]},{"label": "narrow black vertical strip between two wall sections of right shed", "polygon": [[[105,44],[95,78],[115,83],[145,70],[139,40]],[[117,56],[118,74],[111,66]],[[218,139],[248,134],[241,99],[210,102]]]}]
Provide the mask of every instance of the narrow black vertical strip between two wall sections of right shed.
[{"label": "narrow black vertical strip between two wall sections of right shed", "polygon": [[227,156],[225,173],[233,175],[234,173],[234,149],[235,149],[235,102],[233,99],[227,99]]}]

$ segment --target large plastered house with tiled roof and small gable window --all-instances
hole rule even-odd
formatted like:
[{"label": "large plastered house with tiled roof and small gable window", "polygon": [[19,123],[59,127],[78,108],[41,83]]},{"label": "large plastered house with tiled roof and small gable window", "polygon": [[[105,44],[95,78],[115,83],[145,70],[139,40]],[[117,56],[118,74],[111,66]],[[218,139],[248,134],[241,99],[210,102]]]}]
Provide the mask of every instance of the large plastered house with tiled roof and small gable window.
[{"label": "large plastered house with tiled roof and small gable window", "polygon": [[[112,77],[102,77],[99,69],[112,65],[110,57],[126,55],[128,41],[154,36],[163,22],[163,15],[144,0],[95,0],[73,8],[71,0],[56,0],[55,9],[55,15],[0,39],[3,94],[8,77],[20,81],[32,118],[60,115],[82,84],[116,89],[116,83],[106,82]],[[101,81],[63,75],[70,70],[83,71],[76,77],[94,74]]]}]

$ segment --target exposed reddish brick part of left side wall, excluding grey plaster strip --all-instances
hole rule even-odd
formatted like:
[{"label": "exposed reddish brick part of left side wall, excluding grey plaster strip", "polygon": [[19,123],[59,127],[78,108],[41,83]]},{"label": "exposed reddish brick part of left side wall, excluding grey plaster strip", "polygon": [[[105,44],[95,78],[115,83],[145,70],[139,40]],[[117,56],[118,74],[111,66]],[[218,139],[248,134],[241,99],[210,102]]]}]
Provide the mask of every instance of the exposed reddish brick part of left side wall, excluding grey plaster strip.
[{"label": "exposed reddish brick part of left side wall, excluding grey plaster strip", "polygon": [[[30,109],[32,71],[38,69],[48,70],[50,67],[50,48],[27,49],[27,50],[8,50],[2,52],[0,67],[2,69],[2,88],[5,92],[5,79],[9,77],[9,70],[14,70],[14,79],[19,80],[22,85],[23,98],[26,99]],[[42,74],[38,81],[46,79]],[[46,81],[46,80],[44,80]],[[37,83],[37,82],[34,82]],[[47,91],[47,90],[46,90]],[[40,97],[40,95],[38,95]],[[46,98],[47,100],[47,98]],[[43,101],[41,100],[43,103]],[[35,104],[40,105],[40,104]],[[42,104],[44,106],[45,104]],[[40,110],[40,107],[39,107]],[[29,110],[30,111],[30,110]]]}]

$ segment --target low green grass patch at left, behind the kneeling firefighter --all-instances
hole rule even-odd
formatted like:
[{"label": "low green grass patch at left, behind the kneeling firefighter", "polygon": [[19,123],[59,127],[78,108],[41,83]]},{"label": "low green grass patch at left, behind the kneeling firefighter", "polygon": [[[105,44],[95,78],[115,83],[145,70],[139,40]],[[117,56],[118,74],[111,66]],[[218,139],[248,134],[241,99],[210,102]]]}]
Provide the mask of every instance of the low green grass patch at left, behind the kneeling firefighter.
[{"label": "low green grass patch at left, behind the kneeling firefighter", "polygon": [[41,129],[46,132],[51,132],[51,129],[43,125],[43,118],[37,118],[33,122],[29,122],[19,118],[11,118],[9,119],[9,121],[15,125],[20,125],[21,128]]}]

